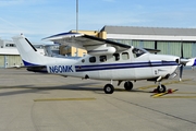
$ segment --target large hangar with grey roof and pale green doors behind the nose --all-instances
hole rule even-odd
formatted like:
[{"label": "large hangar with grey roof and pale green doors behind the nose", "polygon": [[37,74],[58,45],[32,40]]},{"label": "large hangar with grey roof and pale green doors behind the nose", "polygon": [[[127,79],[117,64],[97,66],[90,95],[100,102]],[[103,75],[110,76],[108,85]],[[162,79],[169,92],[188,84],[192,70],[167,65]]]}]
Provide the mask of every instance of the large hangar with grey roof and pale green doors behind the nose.
[{"label": "large hangar with grey roof and pale green doors behind the nose", "polygon": [[140,48],[160,49],[159,53],[196,57],[196,28],[103,26],[106,38]]}]

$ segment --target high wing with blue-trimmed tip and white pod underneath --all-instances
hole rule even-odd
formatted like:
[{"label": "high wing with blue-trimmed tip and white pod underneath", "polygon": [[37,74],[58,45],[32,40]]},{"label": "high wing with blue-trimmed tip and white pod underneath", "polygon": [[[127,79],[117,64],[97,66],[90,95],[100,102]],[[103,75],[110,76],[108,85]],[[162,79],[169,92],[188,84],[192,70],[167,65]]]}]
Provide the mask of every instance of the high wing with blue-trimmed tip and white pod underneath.
[{"label": "high wing with blue-trimmed tip and white pod underneath", "polygon": [[86,49],[87,52],[91,55],[114,53],[115,51],[131,48],[130,45],[115,43],[81,33],[61,33],[46,37],[44,40],[51,40],[56,44]]}]

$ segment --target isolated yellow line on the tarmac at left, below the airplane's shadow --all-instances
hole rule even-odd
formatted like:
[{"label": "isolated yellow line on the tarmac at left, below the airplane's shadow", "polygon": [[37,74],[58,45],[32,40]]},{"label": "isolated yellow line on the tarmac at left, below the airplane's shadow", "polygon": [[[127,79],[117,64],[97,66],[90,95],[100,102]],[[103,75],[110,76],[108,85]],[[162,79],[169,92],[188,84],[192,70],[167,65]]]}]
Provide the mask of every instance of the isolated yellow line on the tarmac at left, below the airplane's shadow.
[{"label": "isolated yellow line on the tarmac at left, below the airplane's shadow", "polygon": [[53,102],[53,100],[95,100],[94,97],[84,97],[84,98],[38,98],[34,102]]}]

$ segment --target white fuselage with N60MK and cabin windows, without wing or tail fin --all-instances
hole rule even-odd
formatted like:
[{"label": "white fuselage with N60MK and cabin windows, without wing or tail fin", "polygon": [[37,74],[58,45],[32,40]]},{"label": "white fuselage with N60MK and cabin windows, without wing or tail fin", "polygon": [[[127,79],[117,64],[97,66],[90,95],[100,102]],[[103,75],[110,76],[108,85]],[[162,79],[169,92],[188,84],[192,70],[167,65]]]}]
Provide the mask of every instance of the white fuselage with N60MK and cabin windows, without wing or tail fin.
[{"label": "white fuselage with N60MK and cabin windows, without wing or tail fin", "polygon": [[[162,59],[160,59],[162,58]],[[105,60],[103,60],[105,59]],[[114,55],[86,56],[47,67],[48,73],[97,80],[150,80],[167,78],[177,68],[177,57],[144,53],[134,57],[132,49]]]}]

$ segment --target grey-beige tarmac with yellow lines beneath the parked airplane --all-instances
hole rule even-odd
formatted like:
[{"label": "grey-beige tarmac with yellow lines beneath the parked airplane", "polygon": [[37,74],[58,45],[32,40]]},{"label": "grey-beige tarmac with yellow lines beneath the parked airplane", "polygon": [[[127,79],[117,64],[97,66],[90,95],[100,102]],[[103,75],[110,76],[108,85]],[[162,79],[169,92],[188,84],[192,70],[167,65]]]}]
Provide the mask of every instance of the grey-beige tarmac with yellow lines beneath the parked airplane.
[{"label": "grey-beige tarmac with yellow lines beneath the parked airplane", "polygon": [[108,81],[0,69],[0,131],[195,131],[196,70],[177,79],[105,94]]}]

